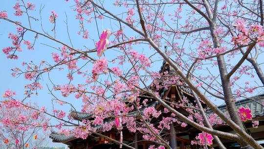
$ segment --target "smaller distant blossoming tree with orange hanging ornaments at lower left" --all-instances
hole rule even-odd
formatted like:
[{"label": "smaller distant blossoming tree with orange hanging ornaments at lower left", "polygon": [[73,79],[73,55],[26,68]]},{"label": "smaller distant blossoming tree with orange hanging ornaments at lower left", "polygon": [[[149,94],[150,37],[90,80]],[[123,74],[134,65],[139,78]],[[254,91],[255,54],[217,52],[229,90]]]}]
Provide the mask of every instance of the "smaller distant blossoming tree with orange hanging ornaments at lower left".
[{"label": "smaller distant blossoming tree with orange hanging ornaments at lower left", "polygon": [[[15,92],[8,90],[4,96],[8,94],[12,96]],[[33,149],[42,145],[46,139],[40,132],[44,122],[48,123],[44,114],[22,107],[14,99],[3,100],[0,105],[0,148]]]}]

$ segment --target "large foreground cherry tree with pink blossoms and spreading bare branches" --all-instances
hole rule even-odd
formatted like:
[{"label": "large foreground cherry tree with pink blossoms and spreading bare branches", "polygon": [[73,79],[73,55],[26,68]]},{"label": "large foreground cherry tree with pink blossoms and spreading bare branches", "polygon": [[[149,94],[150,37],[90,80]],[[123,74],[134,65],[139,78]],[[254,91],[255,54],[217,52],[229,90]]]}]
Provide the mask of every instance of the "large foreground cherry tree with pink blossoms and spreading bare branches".
[{"label": "large foreground cherry tree with pink blossoms and spreading bare branches", "polygon": [[[48,10],[50,13],[46,16],[42,11],[48,8],[17,0],[11,6],[13,12],[5,8],[0,12],[0,24],[13,25],[6,35],[10,43],[4,43],[2,48],[7,58],[20,60],[24,50],[41,47],[48,48],[46,52],[52,57],[50,60],[50,57],[36,55],[42,58],[38,63],[28,57],[22,66],[12,68],[12,76],[23,77],[30,83],[24,86],[25,97],[15,98],[11,90],[3,95],[5,108],[30,109],[59,121],[34,124],[32,129],[53,126],[64,134],[74,133],[86,139],[91,134],[104,136],[94,131],[92,125],[103,125],[104,131],[116,128],[120,133],[126,127],[131,132],[144,132],[145,140],[159,144],[152,149],[171,149],[162,133],[170,129],[172,123],[178,123],[201,130],[196,143],[204,148],[215,139],[220,149],[225,149],[221,137],[238,142],[243,149],[263,149],[243,125],[243,121],[251,120],[250,109],[237,109],[235,105],[237,99],[263,91],[262,0],[61,1],[68,2],[69,11],[75,14],[75,18],[70,19],[77,22],[74,26],[78,28],[77,35],[70,34],[68,11],[65,15]],[[37,8],[39,16],[32,16]],[[58,25],[63,23],[67,27],[62,32]],[[99,23],[105,28],[100,29]],[[67,40],[61,40],[62,37]],[[76,39],[85,43],[74,42]],[[174,75],[158,72],[156,66],[163,60],[175,71]],[[53,80],[50,76],[54,73],[64,74],[65,79],[61,78],[64,83]],[[46,82],[49,85],[43,87]],[[180,103],[162,99],[160,89],[170,85],[188,88],[196,102],[189,103],[186,98]],[[66,116],[67,111],[31,106],[28,100],[38,95],[39,90],[45,90],[56,103],[70,105],[74,110],[72,102],[82,100],[82,112],[93,113],[94,120],[75,123]],[[58,92],[61,95],[57,95]],[[66,101],[72,95],[76,99]],[[158,101],[164,110],[147,107],[150,100]],[[225,102],[228,115],[216,106],[216,100]],[[215,114],[208,117],[202,104]],[[264,103],[258,104],[264,106]],[[144,111],[140,111],[142,107],[146,107]],[[179,107],[186,109],[189,116],[177,111]],[[137,111],[138,116],[129,116],[132,111]],[[168,113],[170,116],[162,116]],[[115,118],[115,123],[104,122],[109,118]],[[152,123],[156,118],[161,119],[159,125]],[[216,121],[223,121],[235,133],[214,129],[212,123]],[[26,128],[26,124],[23,125]],[[122,143],[122,139],[109,139],[134,149]]]}]

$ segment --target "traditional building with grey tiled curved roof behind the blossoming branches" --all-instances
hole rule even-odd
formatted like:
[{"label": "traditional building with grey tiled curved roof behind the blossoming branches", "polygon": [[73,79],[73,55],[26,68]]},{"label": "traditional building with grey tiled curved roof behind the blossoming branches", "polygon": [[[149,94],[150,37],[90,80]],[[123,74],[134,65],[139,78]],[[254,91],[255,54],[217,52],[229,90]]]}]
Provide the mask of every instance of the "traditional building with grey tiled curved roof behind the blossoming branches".
[{"label": "traditional building with grey tiled curved roof behind the blossoming branches", "polygon": [[[175,70],[166,62],[163,62],[161,67],[160,73],[168,72],[167,75],[176,75]],[[189,88],[185,87],[184,84],[180,79],[179,82],[170,85],[168,88],[161,88],[158,90],[159,96],[162,99],[168,99],[170,102],[179,103],[184,99],[188,99],[188,102],[181,102],[184,103],[185,106],[188,106],[195,102],[194,97],[192,96],[191,91]],[[156,90],[155,88],[151,88]],[[140,98],[140,97],[139,97]],[[258,104],[257,102],[253,101],[257,100],[258,102],[264,102],[264,94],[258,95],[256,97],[252,97],[249,99],[242,99],[236,102],[238,107],[244,106],[249,107],[252,110],[253,120],[259,120],[258,128],[253,128],[251,121],[247,121],[244,123],[247,131],[251,134],[256,140],[262,141],[264,140],[264,107]],[[142,98],[143,100],[143,98]],[[164,110],[163,106],[158,101],[149,101],[147,107],[154,107],[156,110]],[[203,105],[206,107],[206,105]],[[140,112],[143,112],[146,107],[142,107]],[[226,111],[226,106],[221,105],[219,108],[222,111]],[[185,116],[189,115],[189,112],[186,111],[184,108],[177,108],[177,111],[184,114]],[[212,111],[207,111],[207,114],[211,114]],[[90,113],[82,113],[72,111],[71,116],[76,121],[83,121],[83,120],[93,120],[93,114]],[[131,112],[130,116],[137,117],[138,112]],[[109,120],[113,121],[113,120]],[[161,120],[156,119],[154,123],[158,124]],[[226,124],[215,124],[214,129],[225,131],[225,132],[232,132],[232,129]],[[97,125],[93,126],[94,130],[98,133],[101,133],[109,138],[117,139],[120,137],[119,132],[117,130],[111,129],[108,132],[102,132],[102,126]],[[152,141],[144,141],[142,138],[141,133],[131,133],[130,131],[123,129],[123,143],[134,147],[135,149],[148,149],[151,145],[154,145],[155,142]],[[165,135],[167,140],[170,140],[170,145],[175,149],[199,149],[198,145],[191,145],[191,140],[195,140],[195,137],[200,133],[200,131],[191,125],[187,125],[186,127],[181,127],[179,124],[172,124],[171,129],[168,130],[168,134]],[[52,132],[49,136],[53,142],[60,142],[64,143],[69,146],[70,149],[119,149],[119,144],[111,142],[109,139],[100,137],[97,135],[90,135],[87,139],[76,138],[73,134],[66,136],[64,134],[58,134],[56,132]],[[235,143],[234,141],[227,140],[220,138],[223,144],[226,146],[227,149],[240,149],[239,144]],[[214,143],[212,147],[217,149],[216,144]],[[127,147],[123,146],[122,149],[128,149]]]}]

